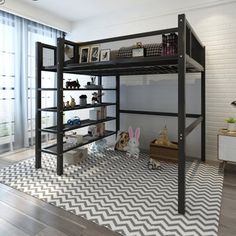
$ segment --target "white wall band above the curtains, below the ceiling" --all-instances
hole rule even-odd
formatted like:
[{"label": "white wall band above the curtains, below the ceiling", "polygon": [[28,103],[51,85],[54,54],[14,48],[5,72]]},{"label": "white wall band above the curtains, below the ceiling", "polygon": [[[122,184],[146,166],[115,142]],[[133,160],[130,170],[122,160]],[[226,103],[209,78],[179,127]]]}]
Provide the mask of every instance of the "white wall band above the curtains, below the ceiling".
[{"label": "white wall band above the curtains, below the ceiling", "polygon": [[6,0],[0,10],[62,30],[71,31],[71,22],[18,0]]}]

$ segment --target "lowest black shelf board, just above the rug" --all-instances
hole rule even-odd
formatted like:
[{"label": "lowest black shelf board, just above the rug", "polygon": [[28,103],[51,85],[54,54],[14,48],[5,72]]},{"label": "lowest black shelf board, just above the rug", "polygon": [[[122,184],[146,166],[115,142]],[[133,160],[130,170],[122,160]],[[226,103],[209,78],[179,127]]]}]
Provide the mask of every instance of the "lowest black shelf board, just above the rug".
[{"label": "lowest black shelf board, just above the rug", "polygon": [[[89,143],[92,143],[94,141],[98,141],[100,139],[109,137],[109,136],[114,135],[114,134],[116,134],[116,131],[106,130],[105,134],[103,136],[99,136],[99,137],[90,137],[89,135],[84,135],[84,142],[81,143],[81,144],[73,145],[72,146],[69,143],[63,143],[63,153],[71,151],[71,150],[73,150],[75,148],[82,147],[82,146],[87,145]],[[53,145],[50,145],[48,147],[44,147],[41,151],[45,152],[45,153],[57,155],[57,144],[53,144]]]}]

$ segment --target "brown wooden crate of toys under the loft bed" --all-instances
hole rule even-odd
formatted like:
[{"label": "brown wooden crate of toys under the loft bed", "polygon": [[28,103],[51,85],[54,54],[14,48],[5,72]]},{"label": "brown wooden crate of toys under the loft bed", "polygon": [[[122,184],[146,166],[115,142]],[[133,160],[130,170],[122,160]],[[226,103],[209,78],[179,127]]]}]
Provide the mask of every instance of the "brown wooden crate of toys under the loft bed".
[{"label": "brown wooden crate of toys under the loft bed", "polygon": [[[176,142],[172,142],[177,144]],[[155,144],[155,140],[150,143],[150,158],[161,160],[161,161],[178,161],[178,148],[164,147]]]}]

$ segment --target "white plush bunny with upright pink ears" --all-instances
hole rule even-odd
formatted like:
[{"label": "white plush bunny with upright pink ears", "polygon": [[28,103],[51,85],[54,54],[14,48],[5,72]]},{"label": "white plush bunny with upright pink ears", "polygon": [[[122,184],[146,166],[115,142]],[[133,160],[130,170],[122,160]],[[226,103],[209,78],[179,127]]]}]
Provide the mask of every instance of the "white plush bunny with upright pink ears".
[{"label": "white plush bunny with upright pink ears", "polygon": [[132,127],[129,127],[129,143],[128,146],[124,148],[127,151],[129,157],[139,157],[139,137],[140,137],[140,128],[136,128],[135,136],[133,133]]}]

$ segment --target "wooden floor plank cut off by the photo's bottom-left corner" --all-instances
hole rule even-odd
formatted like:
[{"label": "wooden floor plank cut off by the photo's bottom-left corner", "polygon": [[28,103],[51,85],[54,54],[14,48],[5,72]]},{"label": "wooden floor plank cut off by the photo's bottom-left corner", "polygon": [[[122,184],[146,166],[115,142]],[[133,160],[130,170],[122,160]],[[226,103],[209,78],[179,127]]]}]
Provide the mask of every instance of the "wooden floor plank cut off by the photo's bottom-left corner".
[{"label": "wooden floor plank cut off by the photo's bottom-left corner", "polygon": [[0,218],[0,235],[4,236],[29,236],[22,230],[16,228],[14,225]]}]

